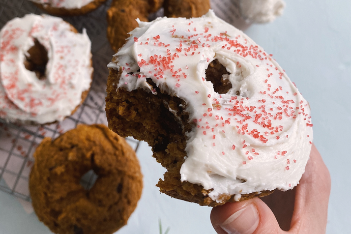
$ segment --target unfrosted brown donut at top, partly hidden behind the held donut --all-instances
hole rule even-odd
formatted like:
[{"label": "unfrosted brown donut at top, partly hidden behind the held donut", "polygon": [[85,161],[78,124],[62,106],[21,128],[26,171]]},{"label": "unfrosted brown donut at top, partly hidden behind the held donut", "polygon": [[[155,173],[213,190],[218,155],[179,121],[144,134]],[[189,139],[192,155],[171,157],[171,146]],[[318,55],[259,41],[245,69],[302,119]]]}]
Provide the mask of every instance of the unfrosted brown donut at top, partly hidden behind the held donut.
[{"label": "unfrosted brown donut at top, partly hidden behind the held donut", "polygon": [[107,11],[107,38],[114,51],[126,43],[129,32],[138,26],[136,19],[148,21],[150,13],[164,7],[168,17],[200,17],[210,9],[210,0],[113,0]]}]

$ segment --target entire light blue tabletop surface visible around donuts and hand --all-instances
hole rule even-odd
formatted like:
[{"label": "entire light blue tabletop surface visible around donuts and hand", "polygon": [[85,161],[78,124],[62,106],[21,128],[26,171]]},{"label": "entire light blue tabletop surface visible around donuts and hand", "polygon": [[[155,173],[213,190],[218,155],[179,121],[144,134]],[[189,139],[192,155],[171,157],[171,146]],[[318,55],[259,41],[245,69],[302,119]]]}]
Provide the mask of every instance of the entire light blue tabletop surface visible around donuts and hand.
[{"label": "entire light blue tabletop surface visible around donuts and hand", "polygon": [[[245,31],[286,70],[312,109],[314,143],[332,178],[328,234],[350,233],[351,202],[351,2],[345,0],[286,0],[283,16]],[[138,157],[144,190],[127,226],[118,233],[215,233],[211,208],[160,194],[154,185],[164,169],[142,143]],[[50,233],[27,215],[19,200],[0,192],[0,234]]]}]

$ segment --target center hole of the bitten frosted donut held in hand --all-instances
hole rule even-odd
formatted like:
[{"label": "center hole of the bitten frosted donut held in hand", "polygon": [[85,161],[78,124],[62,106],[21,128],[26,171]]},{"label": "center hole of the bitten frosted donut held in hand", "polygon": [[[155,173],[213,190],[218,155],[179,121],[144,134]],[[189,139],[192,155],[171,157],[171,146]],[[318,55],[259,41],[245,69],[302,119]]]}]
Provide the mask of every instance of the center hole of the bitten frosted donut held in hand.
[{"label": "center hole of the bitten frosted donut held in hand", "polygon": [[[232,84],[229,81],[229,75],[230,73],[218,60],[212,61],[206,69],[206,80],[213,83],[213,88],[218,94],[226,94],[231,89]],[[237,95],[240,94],[238,92]]]}]

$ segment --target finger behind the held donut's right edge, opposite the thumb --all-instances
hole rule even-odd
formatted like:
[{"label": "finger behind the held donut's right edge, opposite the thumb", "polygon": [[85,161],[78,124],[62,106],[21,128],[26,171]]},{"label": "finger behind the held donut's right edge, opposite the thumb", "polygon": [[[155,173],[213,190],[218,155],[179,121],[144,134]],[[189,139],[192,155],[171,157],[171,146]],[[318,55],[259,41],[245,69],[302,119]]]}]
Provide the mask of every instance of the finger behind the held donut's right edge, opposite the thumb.
[{"label": "finger behind the held donut's right edge, opposite the thumb", "polygon": [[325,233],[330,174],[319,152],[312,145],[305,173],[296,188],[295,209],[291,220],[291,231],[296,233]]}]

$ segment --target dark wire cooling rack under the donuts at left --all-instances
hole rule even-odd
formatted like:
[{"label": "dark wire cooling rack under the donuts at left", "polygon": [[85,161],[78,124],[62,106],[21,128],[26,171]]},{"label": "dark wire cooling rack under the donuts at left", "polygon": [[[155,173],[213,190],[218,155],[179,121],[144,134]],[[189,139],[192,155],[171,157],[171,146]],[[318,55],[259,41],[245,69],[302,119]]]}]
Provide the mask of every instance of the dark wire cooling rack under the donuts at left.
[{"label": "dark wire cooling rack under the donuts at left", "polygon": [[[106,65],[114,54],[106,38],[106,11],[111,1],[107,1],[96,11],[85,16],[64,17],[79,32],[86,28],[92,41],[94,78],[89,95],[80,108],[61,123],[42,126],[21,126],[0,119],[0,190],[16,197],[31,201],[28,177],[34,163],[33,153],[44,137],[56,138],[60,134],[76,128],[78,124],[105,124]],[[40,9],[27,0],[0,0],[0,28],[6,22],[25,14],[42,14]],[[127,138],[136,151],[139,141]],[[85,174],[81,184],[89,189],[96,176],[92,171]]]}]

